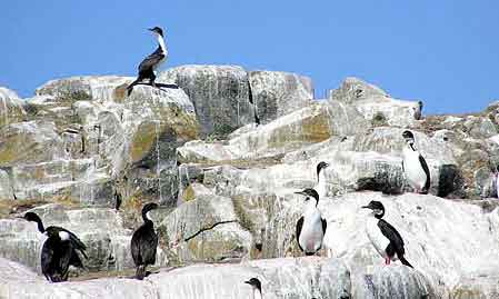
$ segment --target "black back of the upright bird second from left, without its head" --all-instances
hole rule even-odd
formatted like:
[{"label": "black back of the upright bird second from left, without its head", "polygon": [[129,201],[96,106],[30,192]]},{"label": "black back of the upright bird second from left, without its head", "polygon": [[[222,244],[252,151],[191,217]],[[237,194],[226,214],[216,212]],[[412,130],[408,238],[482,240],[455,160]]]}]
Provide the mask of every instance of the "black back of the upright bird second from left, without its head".
[{"label": "black back of the upright bird second from left, without its head", "polygon": [[147,221],[138,228],[131,238],[131,253],[136,266],[154,265],[158,235],[152,221]]}]

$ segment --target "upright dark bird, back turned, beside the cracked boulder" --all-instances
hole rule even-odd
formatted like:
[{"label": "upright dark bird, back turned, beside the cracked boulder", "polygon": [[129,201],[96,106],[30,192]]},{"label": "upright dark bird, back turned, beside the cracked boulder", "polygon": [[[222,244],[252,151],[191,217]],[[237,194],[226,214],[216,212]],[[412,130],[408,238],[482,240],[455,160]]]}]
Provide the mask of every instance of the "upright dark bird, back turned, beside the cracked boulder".
[{"label": "upright dark bird, back turned, beside the cracked boulder", "polygon": [[157,203],[147,203],[142,208],[143,225],[140,226],[131,238],[131,256],[136,263],[136,277],[142,280],[146,277],[146,267],[156,263],[156,250],[158,247],[158,233],[149,212],[158,208]]}]

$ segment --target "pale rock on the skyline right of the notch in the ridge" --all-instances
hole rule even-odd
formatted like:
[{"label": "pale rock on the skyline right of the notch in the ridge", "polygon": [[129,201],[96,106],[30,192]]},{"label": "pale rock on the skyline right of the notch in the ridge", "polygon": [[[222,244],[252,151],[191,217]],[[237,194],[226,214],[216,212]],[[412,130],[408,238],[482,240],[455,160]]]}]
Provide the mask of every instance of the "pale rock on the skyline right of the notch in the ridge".
[{"label": "pale rock on the skyline right of the notch in the ridge", "polygon": [[421,114],[418,101],[392,99],[380,88],[357,78],[347,78],[330,93],[330,101],[352,104],[375,127],[407,127]]}]

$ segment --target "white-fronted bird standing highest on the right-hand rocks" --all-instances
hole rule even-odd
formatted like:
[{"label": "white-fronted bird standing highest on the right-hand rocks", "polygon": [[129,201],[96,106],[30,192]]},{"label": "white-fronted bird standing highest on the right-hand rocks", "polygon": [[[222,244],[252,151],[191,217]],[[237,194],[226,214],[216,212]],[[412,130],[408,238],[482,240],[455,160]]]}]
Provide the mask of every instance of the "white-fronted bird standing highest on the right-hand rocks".
[{"label": "white-fronted bird standing highest on the right-hand rocks", "polygon": [[402,169],[407,182],[417,193],[428,193],[430,189],[430,170],[427,161],[415,147],[415,136],[411,131],[403,131],[402,137],[407,146],[402,149]]}]

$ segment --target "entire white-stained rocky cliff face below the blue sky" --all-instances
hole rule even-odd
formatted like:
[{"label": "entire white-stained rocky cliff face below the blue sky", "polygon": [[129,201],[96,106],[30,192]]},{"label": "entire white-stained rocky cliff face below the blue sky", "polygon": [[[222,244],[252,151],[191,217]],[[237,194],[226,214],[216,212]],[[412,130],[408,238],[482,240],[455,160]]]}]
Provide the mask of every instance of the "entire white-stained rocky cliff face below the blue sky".
[{"label": "entire white-stained rocky cliff face below the blue sky", "polygon": [[[53,80],[23,100],[0,88],[0,257],[39,271],[42,236],[33,223],[12,218],[33,209],[48,225],[81,237],[90,271],[127,271],[141,205],[156,201],[162,207],[152,215],[161,236],[157,266],[268,260],[162,270],[148,278],[151,286],[117,278],[71,282],[56,298],[71,291],[117,297],[120,288],[143,298],[220,298],[208,287],[192,290],[198,270],[220,278],[199,278],[201,285],[242,298],[237,296],[247,295],[247,285],[223,281],[224,273],[247,279],[252,267],[270,298],[288,290],[286,298],[498,293],[499,209],[487,199],[497,197],[497,102],[481,113],[425,116],[418,101],[395,99],[356,78],[329,99],[313,100],[306,77],[233,66],[174,68],[159,76],[161,89],[137,86],[127,97],[132,80]],[[406,129],[415,132],[430,168],[430,195],[411,193],[406,183]],[[320,161],[330,163],[319,205],[328,220],[321,255],[332,259],[282,259],[300,256],[293,231],[302,199],[293,192],[316,186]],[[380,267],[359,212],[372,199],[387,207],[416,270]],[[278,270],[280,265],[296,270]],[[0,267],[29,271],[4,259]],[[315,272],[306,275],[310,267]],[[288,286],[309,275],[315,278],[302,289]],[[29,277],[38,295],[51,293],[40,277]],[[162,285],[171,279],[178,283]],[[321,279],[339,280],[326,286]],[[0,290],[30,298],[6,285]]]}]

